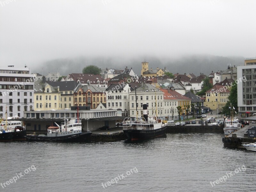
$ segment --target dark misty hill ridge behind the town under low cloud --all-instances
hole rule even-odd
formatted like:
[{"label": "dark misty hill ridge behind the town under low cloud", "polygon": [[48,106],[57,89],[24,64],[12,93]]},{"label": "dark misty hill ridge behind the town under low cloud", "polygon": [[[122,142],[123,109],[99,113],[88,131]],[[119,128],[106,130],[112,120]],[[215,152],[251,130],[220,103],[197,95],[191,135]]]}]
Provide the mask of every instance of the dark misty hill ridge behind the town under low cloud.
[{"label": "dark misty hill ridge behind the town under low cloud", "polygon": [[28,66],[32,73],[60,72],[61,75],[70,73],[82,73],[84,67],[88,65],[96,65],[101,69],[124,69],[125,67],[132,68],[133,71],[140,75],[141,62],[146,60],[150,68],[166,67],[171,73],[194,73],[199,76],[200,73],[209,75],[212,71],[225,70],[227,64],[231,66],[239,66],[244,64],[244,57],[222,57],[213,55],[184,55],[179,58],[160,58],[154,56],[140,56],[135,58],[120,58],[120,57],[79,57],[48,60],[42,63],[41,67]]}]

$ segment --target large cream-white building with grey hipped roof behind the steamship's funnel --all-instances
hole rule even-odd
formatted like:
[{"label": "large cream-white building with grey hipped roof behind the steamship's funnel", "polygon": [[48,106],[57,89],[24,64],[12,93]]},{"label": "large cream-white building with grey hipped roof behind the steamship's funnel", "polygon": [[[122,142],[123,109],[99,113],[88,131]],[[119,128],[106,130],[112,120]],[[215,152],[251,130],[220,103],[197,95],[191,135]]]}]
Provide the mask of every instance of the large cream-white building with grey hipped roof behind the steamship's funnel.
[{"label": "large cream-white building with grey hipped roof behind the steamship's funnel", "polygon": [[[141,82],[141,86],[136,88],[137,94],[137,114],[141,116],[142,105],[147,104],[148,115],[164,116],[163,98],[164,93],[151,84]],[[136,97],[135,90],[130,92],[129,107],[131,117],[136,117]],[[157,111],[157,112],[156,112]]]}]

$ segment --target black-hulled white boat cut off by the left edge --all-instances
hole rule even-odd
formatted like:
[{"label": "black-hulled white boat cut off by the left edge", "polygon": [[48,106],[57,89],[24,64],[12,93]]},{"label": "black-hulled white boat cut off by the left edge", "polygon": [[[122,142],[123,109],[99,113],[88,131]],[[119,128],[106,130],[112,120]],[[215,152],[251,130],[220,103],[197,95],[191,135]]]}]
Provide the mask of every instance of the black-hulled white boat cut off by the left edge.
[{"label": "black-hulled white boat cut off by the left edge", "polygon": [[26,130],[18,121],[19,116],[7,117],[7,107],[5,121],[0,122],[0,141],[23,141],[26,140]]}]

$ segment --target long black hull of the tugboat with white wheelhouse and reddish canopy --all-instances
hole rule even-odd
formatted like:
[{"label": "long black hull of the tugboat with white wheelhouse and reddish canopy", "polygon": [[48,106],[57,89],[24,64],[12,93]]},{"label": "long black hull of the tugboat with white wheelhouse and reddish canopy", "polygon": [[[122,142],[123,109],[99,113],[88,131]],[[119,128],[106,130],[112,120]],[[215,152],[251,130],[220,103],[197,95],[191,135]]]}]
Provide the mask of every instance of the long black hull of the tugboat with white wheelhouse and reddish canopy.
[{"label": "long black hull of the tugboat with white wheelhouse and reddish canopy", "polygon": [[58,136],[58,137],[47,137],[47,136],[35,136],[27,135],[28,141],[48,141],[48,142],[84,142],[86,141],[92,132],[81,132],[77,134]]}]

